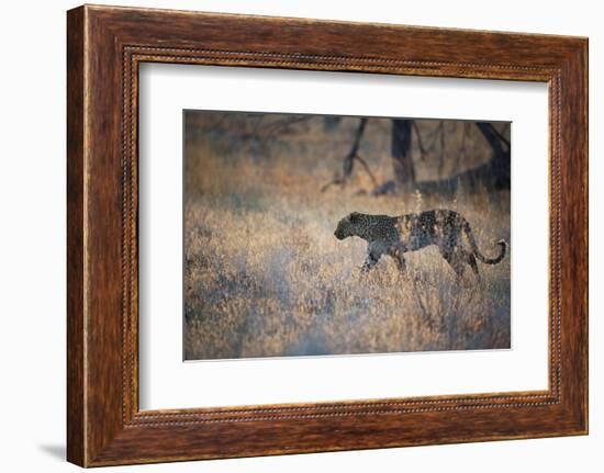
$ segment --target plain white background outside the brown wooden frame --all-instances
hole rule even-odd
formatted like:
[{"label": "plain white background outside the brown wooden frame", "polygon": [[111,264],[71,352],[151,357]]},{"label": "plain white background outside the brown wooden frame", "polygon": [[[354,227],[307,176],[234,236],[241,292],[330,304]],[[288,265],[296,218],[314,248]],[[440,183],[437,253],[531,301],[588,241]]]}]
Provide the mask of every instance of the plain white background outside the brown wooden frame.
[{"label": "plain white background outside the brown wooden frame", "polygon": [[[603,14],[595,1],[326,0],[114,3],[590,36],[591,435],[558,438],[116,468],[161,472],[601,471],[604,464]],[[70,1],[3,4],[0,72],[0,465],[77,471],[65,449],[65,10]],[[597,205],[600,203],[600,205]]]}]

